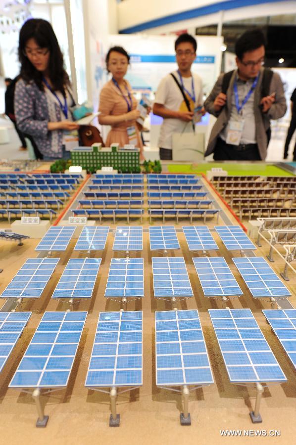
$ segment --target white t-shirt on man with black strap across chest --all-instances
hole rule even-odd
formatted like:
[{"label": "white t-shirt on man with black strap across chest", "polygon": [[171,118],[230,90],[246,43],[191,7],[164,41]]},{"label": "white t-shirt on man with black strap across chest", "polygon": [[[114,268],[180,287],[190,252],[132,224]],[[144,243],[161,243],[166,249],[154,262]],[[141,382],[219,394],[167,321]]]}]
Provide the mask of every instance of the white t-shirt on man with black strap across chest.
[{"label": "white t-shirt on man with black strap across chest", "polygon": [[[180,83],[180,77],[177,71],[174,71],[173,74],[175,75],[177,81]],[[194,81],[194,92],[196,99],[195,103],[193,103],[193,100],[186,93],[186,91],[185,94],[188,97],[191,109],[193,111],[197,105],[202,105],[202,81],[201,78],[195,73],[192,74],[192,77]],[[190,92],[191,95],[193,95],[192,77],[182,77],[183,85],[185,89]],[[186,103],[183,99],[183,95],[170,74],[168,74],[161,80],[155,94],[154,102],[164,105],[165,108],[168,108],[172,111],[188,111]],[[181,121],[180,119],[163,119],[158,140],[159,147],[171,149],[172,134],[184,132],[193,132],[192,121],[186,123],[184,121]]]}]

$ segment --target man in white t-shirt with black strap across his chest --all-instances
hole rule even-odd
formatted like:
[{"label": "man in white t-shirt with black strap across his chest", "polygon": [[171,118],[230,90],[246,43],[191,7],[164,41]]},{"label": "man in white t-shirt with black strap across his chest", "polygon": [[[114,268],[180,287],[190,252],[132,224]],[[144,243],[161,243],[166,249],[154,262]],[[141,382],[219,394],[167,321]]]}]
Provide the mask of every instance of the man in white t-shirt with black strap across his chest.
[{"label": "man in white t-shirt with black strap across his chest", "polygon": [[197,74],[191,73],[197,56],[196,39],[190,34],[181,34],[175,42],[175,51],[178,70],[172,73],[174,77],[168,74],[161,80],[153,105],[153,113],[163,118],[158,140],[162,160],[172,159],[173,134],[193,133],[194,119],[203,114],[202,82]]}]

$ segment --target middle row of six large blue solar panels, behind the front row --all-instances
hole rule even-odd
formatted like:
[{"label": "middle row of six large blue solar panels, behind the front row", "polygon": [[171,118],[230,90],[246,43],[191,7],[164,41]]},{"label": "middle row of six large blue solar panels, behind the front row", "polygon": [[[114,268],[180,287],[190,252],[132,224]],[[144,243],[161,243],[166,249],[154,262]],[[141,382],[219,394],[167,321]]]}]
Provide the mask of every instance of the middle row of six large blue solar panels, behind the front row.
[{"label": "middle row of six large blue solar panels, behind the front row", "polygon": [[[122,242],[120,238],[118,242]],[[137,240],[133,242],[136,243]],[[241,261],[237,262],[237,260]],[[58,258],[28,259],[0,297],[39,298],[58,261]],[[253,297],[270,298],[291,295],[264,258],[235,258],[233,261]],[[193,262],[206,297],[243,295],[223,257],[193,258]],[[91,298],[100,263],[100,258],[70,259],[52,298]],[[250,265],[251,268],[244,268],[242,271],[240,266],[245,264]],[[152,257],[152,276],[156,298],[194,296],[183,257]],[[113,258],[111,260],[105,297],[144,297],[143,258]]]}]

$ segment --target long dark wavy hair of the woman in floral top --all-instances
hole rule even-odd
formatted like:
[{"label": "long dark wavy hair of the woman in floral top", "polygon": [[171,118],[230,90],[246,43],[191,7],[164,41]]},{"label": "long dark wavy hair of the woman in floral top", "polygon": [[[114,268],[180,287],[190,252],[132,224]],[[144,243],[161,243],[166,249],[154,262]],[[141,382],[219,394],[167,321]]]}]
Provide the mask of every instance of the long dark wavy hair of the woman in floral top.
[{"label": "long dark wavy hair of the woman in floral top", "polygon": [[27,20],[19,34],[18,58],[21,63],[20,76],[24,81],[34,81],[37,87],[44,91],[42,73],[38,71],[25,56],[25,47],[28,40],[34,39],[40,48],[48,48],[49,53],[49,79],[54,91],[61,91],[65,95],[64,86],[69,84],[69,77],[64,68],[63,54],[58,45],[50,23],[43,19]]}]

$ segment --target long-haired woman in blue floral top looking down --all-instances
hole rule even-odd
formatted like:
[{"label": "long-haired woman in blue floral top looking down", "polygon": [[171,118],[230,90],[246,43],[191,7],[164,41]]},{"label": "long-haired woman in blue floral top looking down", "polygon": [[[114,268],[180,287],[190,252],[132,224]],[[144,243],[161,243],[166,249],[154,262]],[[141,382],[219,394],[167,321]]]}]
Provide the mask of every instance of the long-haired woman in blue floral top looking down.
[{"label": "long-haired woman in blue floral top looking down", "polygon": [[14,93],[18,128],[33,136],[44,160],[69,158],[67,135],[79,126],[63,55],[49,22],[30,19],[20,30],[20,80]]}]

